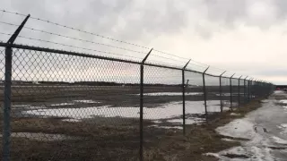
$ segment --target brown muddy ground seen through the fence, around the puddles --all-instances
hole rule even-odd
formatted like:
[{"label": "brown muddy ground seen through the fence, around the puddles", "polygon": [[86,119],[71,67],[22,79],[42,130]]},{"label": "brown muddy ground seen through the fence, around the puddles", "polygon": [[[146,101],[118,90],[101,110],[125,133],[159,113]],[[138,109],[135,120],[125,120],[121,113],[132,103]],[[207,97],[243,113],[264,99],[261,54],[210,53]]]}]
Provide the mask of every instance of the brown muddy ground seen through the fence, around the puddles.
[{"label": "brown muddy ground seen through the fence, around the puddles", "polygon": [[[209,100],[219,100],[217,89],[208,89],[207,98]],[[227,87],[225,90],[228,91]],[[199,93],[195,96],[187,96],[187,101],[204,100],[201,87],[186,91],[187,93]],[[144,88],[144,93],[150,92],[181,92],[181,89],[180,87]],[[95,115],[92,118],[83,119],[81,122],[66,122],[63,119],[69,118],[62,117],[61,114],[47,117],[22,113],[22,111],[34,109],[35,106],[38,107],[37,109],[39,106],[45,108],[81,108],[106,105],[137,107],[139,106],[138,94],[138,87],[13,87],[10,155],[12,160],[138,160],[138,118]],[[52,106],[81,99],[99,102]],[[229,100],[230,97],[224,96],[223,99]],[[181,100],[181,96],[144,96],[143,106],[152,108]],[[236,102],[236,100],[238,100],[238,96],[233,97],[233,101]],[[238,117],[229,114],[230,112],[210,113],[209,123],[213,125],[205,123],[187,125],[187,137],[183,137],[182,130],[178,129],[178,123],[167,123],[164,120],[161,120],[161,123],[154,123],[144,120],[144,160],[211,159],[210,157],[201,157],[201,154],[207,150],[211,151],[210,149],[213,147],[214,150],[217,150],[233,146],[230,145],[230,142],[219,141],[217,137],[220,138],[220,136],[213,131],[216,123],[225,123],[224,119],[228,118],[229,121],[230,117]],[[205,118],[204,114],[197,114],[196,117]],[[158,127],[152,126],[155,124]],[[161,126],[169,128],[159,128]],[[179,126],[182,125],[179,124]],[[2,122],[1,127],[3,127]],[[208,144],[215,144],[215,146],[208,146]]]}]

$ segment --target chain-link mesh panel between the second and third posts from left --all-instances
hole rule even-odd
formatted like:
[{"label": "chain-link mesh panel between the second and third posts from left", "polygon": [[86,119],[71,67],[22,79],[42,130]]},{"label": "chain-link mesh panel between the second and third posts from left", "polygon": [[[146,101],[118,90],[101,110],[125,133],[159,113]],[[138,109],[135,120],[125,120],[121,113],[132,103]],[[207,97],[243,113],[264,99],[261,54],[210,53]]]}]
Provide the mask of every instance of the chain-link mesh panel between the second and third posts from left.
[{"label": "chain-link mesh panel between the second and third posts from left", "polygon": [[181,71],[144,65],[143,136],[144,158],[154,159],[169,133],[180,133],[182,119]]}]

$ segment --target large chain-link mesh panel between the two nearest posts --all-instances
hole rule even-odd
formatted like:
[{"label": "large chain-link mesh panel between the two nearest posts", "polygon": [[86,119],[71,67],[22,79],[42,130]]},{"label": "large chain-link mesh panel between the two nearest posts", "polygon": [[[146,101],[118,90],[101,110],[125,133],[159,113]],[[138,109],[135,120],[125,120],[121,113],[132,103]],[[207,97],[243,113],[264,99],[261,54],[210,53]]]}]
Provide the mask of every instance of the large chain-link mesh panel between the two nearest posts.
[{"label": "large chain-link mesh panel between the two nearest posts", "polygon": [[13,160],[137,158],[139,65],[14,49],[12,67]]}]

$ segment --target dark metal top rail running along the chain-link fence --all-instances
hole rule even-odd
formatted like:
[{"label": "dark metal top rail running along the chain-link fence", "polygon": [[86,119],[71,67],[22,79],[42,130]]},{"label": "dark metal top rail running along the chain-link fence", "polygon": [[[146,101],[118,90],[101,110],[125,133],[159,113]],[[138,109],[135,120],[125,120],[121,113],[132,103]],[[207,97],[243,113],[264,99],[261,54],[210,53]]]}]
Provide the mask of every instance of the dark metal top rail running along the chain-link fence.
[{"label": "dark metal top rail running along the chain-link fence", "polygon": [[[56,54],[62,54],[62,55],[75,55],[75,56],[90,57],[90,58],[103,59],[103,60],[122,62],[122,63],[128,63],[128,64],[142,64],[141,62],[126,60],[126,59],[121,59],[121,58],[114,58],[114,57],[101,56],[101,55],[89,55],[89,54],[84,54],[84,53],[65,51],[65,50],[59,50],[59,49],[52,49],[52,48],[47,48],[47,47],[34,47],[34,46],[27,46],[27,45],[20,45],[20,44],[8,44],[8,43],[4,43],[4,42],[0,42],[0,47],[13,47],[13,48],[20,48],[20,49],[35,50],[35,51],[40,51],[40,52],[56,53]],[[144,65],[182,71],[182,68],[180,68],[180,67],[173,67],[173,66],[162,65],[162,64],[147,63]],[[198,71],[194,71],[194,70],[190,70],[190,69],[185,69],[185,71],[196,72],[196,73],[201,73],[201,74],[204,73],[204,72],[198,72]],[[220,78],[220,75],[213,75],[210,73],[204,73],[204,74],[208,75],[208,76]],[[230,79],[230,77],[226,77],[226,76],[222,76],[222,78]],[[232,79],[237,79],[237,78],[232,78]]]}]

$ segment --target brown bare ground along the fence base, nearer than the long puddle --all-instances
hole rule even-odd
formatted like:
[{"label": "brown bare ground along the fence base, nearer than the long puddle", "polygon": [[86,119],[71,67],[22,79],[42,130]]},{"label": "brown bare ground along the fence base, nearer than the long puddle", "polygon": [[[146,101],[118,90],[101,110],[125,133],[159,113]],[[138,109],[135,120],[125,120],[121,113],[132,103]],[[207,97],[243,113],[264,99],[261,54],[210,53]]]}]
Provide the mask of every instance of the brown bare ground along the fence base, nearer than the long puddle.
[{"label": "brown bare ground along the fence base, nearer than the long puddle", "polygon": [[[213,161],[204,156],[206,152],[217,152],[238,146],[238,141],[222,140],[215,129],[235,118],[257,109],[260,101],[254,100],[231,112],[209,115],[208,123],[187,125],[186,136],[182,131],[151,127],[144,122],[144,160],[152,161]],[[12,121],[12,160],[138,160],[138,119],[94,118],[78,123],[63,122],[62,118],[19,118]],[[61,134],[58,140],[48,140],[40,135],[38,140],[23,137],[18,132]],[[25,134],[25,133],[24,133]],[[65,136],[69,136],[66,137]]]}]

